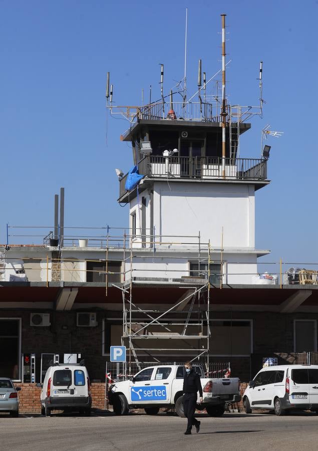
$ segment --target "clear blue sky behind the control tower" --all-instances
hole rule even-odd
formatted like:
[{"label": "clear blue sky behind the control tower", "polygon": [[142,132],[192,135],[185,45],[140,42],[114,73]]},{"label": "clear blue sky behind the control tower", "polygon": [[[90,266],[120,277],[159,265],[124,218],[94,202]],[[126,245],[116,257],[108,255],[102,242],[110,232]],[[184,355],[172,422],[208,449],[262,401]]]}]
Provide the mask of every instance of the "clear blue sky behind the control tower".
[{"label": "clear blue sky behind the control tower", "polygon": [[[256,246],[268,261],[316,262],[318,2],[253,1],[0,2],[0,242],[5,224],[53,223],[54,194],[66,192],[66,225],[127,225],[117,204],[115,167],[132,164],[120,142],[128,122],[108,118],[106,73],[117,104],[141,103],[141,89],[160,96],[184,71],[188,7],[188,92],[198,59],[207,77],[220,69],[220,14],[226,13],[227,93],[232,104],[255,104],[263,60],[264,118],[252,120],[241,156],[257,158],[260,131],[272,138],[272,183],[256,193]],[[211,86],[212,87],[212,86]]]}]

